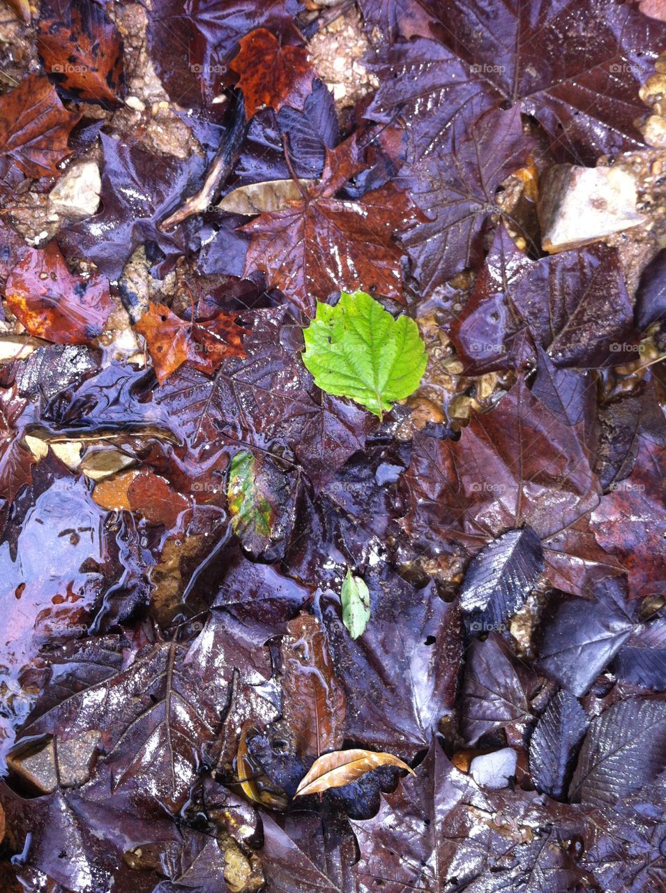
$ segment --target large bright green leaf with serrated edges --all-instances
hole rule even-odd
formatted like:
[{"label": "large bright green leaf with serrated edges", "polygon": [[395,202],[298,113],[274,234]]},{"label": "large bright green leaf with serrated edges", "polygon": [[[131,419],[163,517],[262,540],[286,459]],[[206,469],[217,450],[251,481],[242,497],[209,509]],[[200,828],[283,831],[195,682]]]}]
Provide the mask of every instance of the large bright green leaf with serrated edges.
[{"label": "large bright green leaf with serrated edges", "polygon": [[342,292],[335,307],[317,303],[304,330],[303,362],[328,394],[351,397],[382,418],[410,396],[426,371],[426,349],[408,316],[396,320],[364,291]]}]

